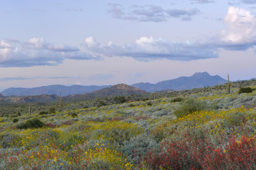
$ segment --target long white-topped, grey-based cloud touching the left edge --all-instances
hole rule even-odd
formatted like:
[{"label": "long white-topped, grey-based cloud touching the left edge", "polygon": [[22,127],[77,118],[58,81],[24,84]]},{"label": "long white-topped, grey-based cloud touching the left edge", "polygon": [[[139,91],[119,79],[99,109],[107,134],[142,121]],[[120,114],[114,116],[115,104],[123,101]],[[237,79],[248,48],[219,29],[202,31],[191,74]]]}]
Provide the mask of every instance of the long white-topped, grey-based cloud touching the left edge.
[{"label": "long white-topped, grey-based cloud touching the left edge", "polygon": [[2,39],[0,67],[56,66],[65,59],[99,59],[76,46],[47,43],[43,38],[28,42]]}]

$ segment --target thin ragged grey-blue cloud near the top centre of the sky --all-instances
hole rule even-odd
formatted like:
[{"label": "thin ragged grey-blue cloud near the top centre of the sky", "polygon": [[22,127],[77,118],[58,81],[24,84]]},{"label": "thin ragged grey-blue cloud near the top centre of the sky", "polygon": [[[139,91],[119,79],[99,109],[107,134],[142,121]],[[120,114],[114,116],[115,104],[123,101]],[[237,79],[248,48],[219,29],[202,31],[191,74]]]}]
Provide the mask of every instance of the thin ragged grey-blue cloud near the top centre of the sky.
[{"label": "thin ragged grey-blue cloud near the top centre of the sky", "polygon": [[137,20],[140,22],[164,22],[170,17],[181,18],[182,20],[191,20],[192,16],[200,13],[197,8],[188,10],[164,10],[160,6],[156,5],[133,5],[125,11],[120,4],[109,4],[109,6],[111,6],[111,9],[108,12],[111,13],[114,18]]}]

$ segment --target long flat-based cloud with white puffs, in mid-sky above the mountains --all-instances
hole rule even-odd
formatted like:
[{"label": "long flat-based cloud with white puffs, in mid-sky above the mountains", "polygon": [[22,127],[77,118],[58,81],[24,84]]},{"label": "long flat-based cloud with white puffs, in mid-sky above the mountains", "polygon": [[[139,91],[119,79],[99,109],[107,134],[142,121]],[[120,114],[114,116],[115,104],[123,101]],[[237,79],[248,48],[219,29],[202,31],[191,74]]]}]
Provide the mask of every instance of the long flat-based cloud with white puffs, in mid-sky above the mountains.
[{"label": "long flat-based cloud with white puffs, in mid-sky above the mountains", "polygon": [[112,43],[108,46],[90,48],[90,50],[108,57],[133,57],[137,60],[198,60],[218,57],[215,49],[207,48],[207,46],[189,41],[179,43],[152,37],[141,37],[136,39],[135,43],[122,46]]}]

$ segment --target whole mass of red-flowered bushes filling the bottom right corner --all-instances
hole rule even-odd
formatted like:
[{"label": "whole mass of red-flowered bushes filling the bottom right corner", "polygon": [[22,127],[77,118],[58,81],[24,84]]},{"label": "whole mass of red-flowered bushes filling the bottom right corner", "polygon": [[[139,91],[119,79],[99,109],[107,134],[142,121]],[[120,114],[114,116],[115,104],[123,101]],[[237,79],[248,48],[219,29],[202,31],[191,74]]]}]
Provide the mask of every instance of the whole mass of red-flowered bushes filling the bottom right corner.
[{"label": "whole mass of red-flowered bushes filling the bottom right corner", "polygon": [[151,150],[145,161],[152,169],[255,169],[255,139],[232,137],[225,148],[214,147],[207,139],[163,141],[160,151]]}]

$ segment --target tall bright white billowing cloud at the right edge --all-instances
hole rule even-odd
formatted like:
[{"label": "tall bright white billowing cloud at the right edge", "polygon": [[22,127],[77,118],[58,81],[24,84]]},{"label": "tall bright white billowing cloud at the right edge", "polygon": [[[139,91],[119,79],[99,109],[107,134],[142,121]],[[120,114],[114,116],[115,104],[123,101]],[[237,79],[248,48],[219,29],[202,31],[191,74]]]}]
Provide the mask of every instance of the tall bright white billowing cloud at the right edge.
[{"label": "tall bright white billowing cloud at the right edge", "polygon": [[246,50],[256,45],[256,18],[250,11],[230,6],[224,18],[226,28],[213,41],[227,50]]}]

